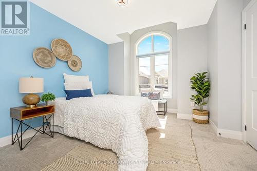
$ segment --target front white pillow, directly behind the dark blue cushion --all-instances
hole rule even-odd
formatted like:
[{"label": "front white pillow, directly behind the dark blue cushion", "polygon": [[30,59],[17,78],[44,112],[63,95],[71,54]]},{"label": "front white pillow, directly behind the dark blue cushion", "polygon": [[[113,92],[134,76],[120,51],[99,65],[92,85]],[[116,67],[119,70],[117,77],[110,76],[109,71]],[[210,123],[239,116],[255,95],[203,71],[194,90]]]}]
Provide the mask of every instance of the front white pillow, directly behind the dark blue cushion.
[{"label": "front white pillow, directly behind the dark blue cushion", "polygon": [[65,86],[65,90],[85,90],[85,89],[91,89],[91,93],[93,96],[95,96],[92,82],[85,82],[85,83],[63,83]]}]

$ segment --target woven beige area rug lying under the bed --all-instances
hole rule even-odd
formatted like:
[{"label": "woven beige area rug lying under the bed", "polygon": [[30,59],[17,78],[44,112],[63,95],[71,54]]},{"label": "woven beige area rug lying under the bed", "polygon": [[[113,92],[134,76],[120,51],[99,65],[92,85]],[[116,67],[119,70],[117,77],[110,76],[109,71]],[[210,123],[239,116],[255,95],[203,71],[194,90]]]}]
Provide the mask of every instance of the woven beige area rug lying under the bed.
[{"label": "woven beige area rug lying under the bed", "polygon": [[[147,170],[200,170],[189,125],[166,124],[146,132],[149,140]],[[112,150],[82,143],[42,170],[118,170]]]}]

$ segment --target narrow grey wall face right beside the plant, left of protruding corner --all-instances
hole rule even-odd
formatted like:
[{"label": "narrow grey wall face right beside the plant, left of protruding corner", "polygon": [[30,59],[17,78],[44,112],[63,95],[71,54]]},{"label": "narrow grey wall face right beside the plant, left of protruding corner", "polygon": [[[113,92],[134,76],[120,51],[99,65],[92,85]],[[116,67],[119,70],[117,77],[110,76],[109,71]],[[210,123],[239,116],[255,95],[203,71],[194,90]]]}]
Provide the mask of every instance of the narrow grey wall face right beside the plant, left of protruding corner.
[{"label": "narrow grey wall face right beside the plant, left of protruding corner", "polygon": [[208,73],[211,83],[208,110],[210,120],[218,126],[218,12],[217,3],[207,24]]}]

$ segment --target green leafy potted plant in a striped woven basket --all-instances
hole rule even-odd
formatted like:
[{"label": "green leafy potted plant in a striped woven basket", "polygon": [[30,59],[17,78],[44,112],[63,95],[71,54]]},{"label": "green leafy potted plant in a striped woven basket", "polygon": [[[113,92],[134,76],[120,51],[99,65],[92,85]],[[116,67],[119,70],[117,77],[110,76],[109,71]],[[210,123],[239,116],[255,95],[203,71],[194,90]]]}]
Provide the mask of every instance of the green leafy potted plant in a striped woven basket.
[{"label": "green leafy potted plant in a striped woven basket", "polygon": [[198,109],[193,109],[193,121],[199,124],[209,123],[209,111],[204,110],[204,106],[207,105],[206,98],[209,97],[211,84],[206,74],[195,73],[190,79],[191,89],[195,90],[196,94],[190,98],[198,106]]}]

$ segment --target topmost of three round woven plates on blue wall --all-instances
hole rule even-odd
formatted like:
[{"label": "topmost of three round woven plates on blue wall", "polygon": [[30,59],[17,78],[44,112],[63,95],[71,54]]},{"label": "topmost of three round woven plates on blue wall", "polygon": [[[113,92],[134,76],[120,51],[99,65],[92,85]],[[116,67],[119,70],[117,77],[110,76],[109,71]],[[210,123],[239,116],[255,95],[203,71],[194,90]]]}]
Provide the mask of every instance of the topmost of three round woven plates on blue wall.
[{"label": "topmost of three round woven plates on blue wall", "polygon": [[62,61],[68,61],[72,57],[72,48],[63,39],[54,39],[51,43],[52,52]]}]

